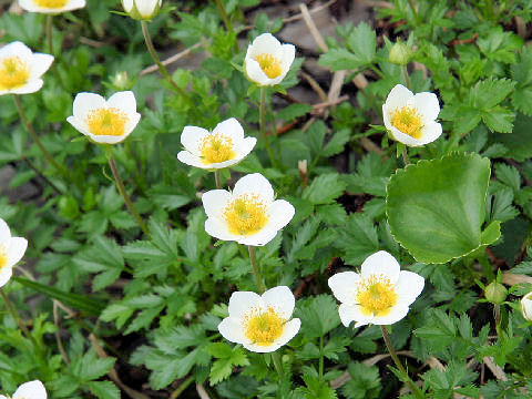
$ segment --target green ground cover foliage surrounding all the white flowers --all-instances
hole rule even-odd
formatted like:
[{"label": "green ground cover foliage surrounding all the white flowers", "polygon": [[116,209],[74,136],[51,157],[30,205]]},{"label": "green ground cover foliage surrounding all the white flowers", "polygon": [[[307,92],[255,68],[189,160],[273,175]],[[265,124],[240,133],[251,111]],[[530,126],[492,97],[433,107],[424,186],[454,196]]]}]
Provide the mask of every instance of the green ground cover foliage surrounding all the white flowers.
[{"label": "green ground cover foliage surrounding all the white flowers", "polygon": [[[29,242],[1,288],[14,309],[2,306],[0,393],[40,380],[50,398],[532,395],[532,310],[520,306],[532,290],[532,2],[379,2],[375,21],[338,25],[316,53],[296,49],[286,76],[258,86],[244,73],[248,44],[285,23],[262,6],[163,1],[141,27],[115,0],[53,18],[0,2],[2,43],[55,57],[41,90],[0,95],[0,164],[16,168],[11,188],[37,188],[0,197],[0,217]],[[205,58],[171,76],[141,72],[154,62],[142,28],[156,50]],[[326,79],[304,78],[313,58]],[[334,74],[340,101],[326,93]],[[309,81],[325,105],[290,95]],[[441,136],[409,146],[387,132],[397,84],[437,95]],[[66,122],[78,93],[127,90],[141,120],[123,143]],[[242,162],[215,174],[177,160],[184,126],[231,117],[257,137]],[[295,215],[248,253],[206,233],[202,194],[254,173]],[[345,327],[329,278],[379,250],[424,288],[382,330]],[[232,294],[260,284],[296,298],[300,329],[275,352],[218,331]]]}]

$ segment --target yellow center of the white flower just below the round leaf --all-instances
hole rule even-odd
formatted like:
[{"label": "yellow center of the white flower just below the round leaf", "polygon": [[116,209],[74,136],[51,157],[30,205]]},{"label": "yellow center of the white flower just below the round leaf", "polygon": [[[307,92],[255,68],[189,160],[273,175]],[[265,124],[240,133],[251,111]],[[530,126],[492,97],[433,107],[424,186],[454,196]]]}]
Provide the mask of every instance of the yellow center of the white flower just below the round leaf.
[{"label": "yellow center of the white flower just below the round leaf", "polygon": [[365,315],[386,316],[397,304],[398,295],[385,276],[370,276],[358,283],[357,303]]}]

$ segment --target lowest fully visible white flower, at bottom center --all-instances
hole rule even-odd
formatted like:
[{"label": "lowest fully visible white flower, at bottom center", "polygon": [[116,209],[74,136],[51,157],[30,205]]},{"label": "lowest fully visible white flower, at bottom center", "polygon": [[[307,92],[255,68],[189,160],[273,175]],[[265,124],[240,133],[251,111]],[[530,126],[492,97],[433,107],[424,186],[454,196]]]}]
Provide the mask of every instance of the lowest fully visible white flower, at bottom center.
[{"label": "lowest fully visible white flower, at bottom center", "polygon": [[218,325],[222,336],[255,352],[272,352],[299,331],[301,320],[293,318],[296,299],[286,286],[274,287],[263,295],[233,293],[229,317]]}]

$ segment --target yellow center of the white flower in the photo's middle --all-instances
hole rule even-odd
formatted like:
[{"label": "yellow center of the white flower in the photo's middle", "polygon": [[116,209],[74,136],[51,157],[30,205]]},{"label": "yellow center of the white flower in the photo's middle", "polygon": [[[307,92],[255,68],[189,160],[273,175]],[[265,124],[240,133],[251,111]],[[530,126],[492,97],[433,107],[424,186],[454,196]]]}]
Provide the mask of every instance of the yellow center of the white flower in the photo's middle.
[{"label": "yellow center of the white flower in the photo's middle", "polygon": [[224,211],[229,233],[252,235],[268,222],[266,205],[256,194],[245,194],[233,200]]}]

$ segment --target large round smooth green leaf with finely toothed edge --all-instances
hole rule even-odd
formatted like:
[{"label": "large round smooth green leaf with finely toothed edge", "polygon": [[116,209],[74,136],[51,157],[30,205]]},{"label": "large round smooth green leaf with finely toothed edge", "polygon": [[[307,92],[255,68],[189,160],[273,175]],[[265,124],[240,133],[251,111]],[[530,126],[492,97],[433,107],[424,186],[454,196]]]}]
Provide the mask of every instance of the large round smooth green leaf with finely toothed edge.
[{"label": "large round smooth green leaf with finely toothed edge", "polygon": [[490,161],[453,153],[398,170],[387,186],[390,231],[418,260],[446,263],[500,236],[499,224],[482,233]]}]

